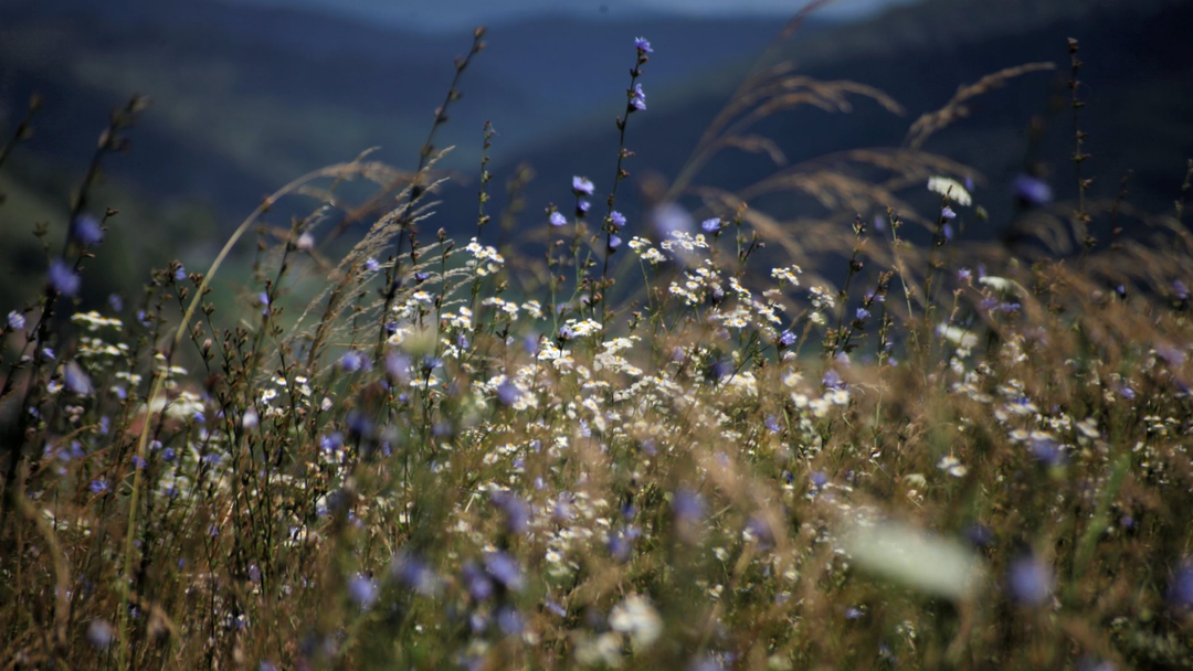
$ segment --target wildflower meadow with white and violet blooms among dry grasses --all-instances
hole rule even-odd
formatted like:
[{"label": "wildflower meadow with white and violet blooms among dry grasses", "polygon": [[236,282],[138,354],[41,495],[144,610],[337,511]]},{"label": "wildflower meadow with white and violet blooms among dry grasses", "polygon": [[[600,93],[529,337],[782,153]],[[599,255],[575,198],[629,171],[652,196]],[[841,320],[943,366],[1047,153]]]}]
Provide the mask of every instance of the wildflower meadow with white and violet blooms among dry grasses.
[{"label": "wildflower meadow with white and violet blooms among dry grasses", "polygon": [[[1096,49],[957,82],[902,145],[701,184],[777,111],[895,105],[765,64],[629,209],[667,54],[626,36],[607,172],[525,203],[476,129],[453,238],[437,129],[484,38],[414,169],[296,176],[206,267],[162,250],[97,303],[138,224],[93,186],[153,108],[113,112],[32,231],[43,288],[0,297],[0,669],[1193,667],[1193,162],[1162,212],[1095,180]],[[925,149],[1032,76],[1073,82],[1061,176],[991,193]],[[784,192],[821,210],[752,206]],[[1008,198],[1031,236],[965,236]]]}]

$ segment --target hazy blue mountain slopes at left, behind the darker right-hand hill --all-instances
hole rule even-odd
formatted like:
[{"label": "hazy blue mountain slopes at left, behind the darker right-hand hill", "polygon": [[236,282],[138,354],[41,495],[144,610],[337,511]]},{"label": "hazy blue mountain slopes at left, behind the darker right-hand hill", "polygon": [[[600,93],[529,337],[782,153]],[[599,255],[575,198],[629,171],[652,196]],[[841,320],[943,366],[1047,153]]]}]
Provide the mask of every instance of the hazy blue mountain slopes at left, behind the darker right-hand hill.
[{"label": "hazy blue mountain slopes at left, behind the darker right-hand hill", "polygon": [[[370,147],[396,163],[416,157],[453,58],[471,42],[470,30],[428,36],[310,11],[181,0],[13,0],[0,25],[0,114],[11,118],[35,91],[47,98],[27,150],[78,162],[110,107],[148,94],[137,153],[113,174],[150,193],[218,201],[229,215]],[[668,86],[748,60],[774,30],[774,20],[657,15],[496,26],[439,144],[460,148],[449,166],[470,168],[486,120],[509,153],[577,119],[612,118],[635,36],[667,54],[650,64],[654,101]]]}]

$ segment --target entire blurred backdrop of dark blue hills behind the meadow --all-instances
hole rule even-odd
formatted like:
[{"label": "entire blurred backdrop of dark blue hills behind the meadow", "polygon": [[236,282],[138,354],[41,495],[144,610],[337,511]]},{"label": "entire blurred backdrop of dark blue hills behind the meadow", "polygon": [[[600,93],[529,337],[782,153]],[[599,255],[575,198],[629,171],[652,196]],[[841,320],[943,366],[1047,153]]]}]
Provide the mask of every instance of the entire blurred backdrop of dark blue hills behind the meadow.
[{"label": "entire blurred backdrop of dark blue hills behind the meadow", "polygon": [[[134,132],[132,153],[109,163],[105,198],[137,211],[119,222],[134,231],[132,242],[153,249],[169,241],[155,257],[193,254],[203,240],[218,244],[215,229],[234,225],[265,193],[366,148],[379,145],[381,160],[412,167],[452,60],[470,39],[468,31],[420,33],[311,10],[181,0],[10,0],[0,6],[0,129],[8,132],[31,93],[47,100],[37,136],[0,170],[10,201],[0,207],[5,249],[27,251],[8,241],[27,241],[31,222],[61,220],[106,111],[136,92],[153,106]],[[453,232],[474,225],[487,119],[499,132],[494,191],[523,161],[538,174],[526,193],[526,225],[548,203],[569,198],[571,174],[608,188],[612,119],[624,105],[638,35],[656,51],[643,80],[649,110],[629,132],[637,151],[630,168],[636,178],[674,176],[780,27],[758,18],[661,14],[596,23],[546,15],[495,26],[437,138],[439,147],[457,145],[446,166],[460,185],[441,194],[437,225]],[[897,147],[910,123],[959,85],[1024,62],[1057,62],[1055,73],[1013,80],[978,99],[970,118],[926,147],[972,166],[984,178],[979,200],[1005,222],[1014,213],[1009,181],[1027,168],[1045,174],[1058,197],[1075,192],[1063,159],[1071,153],[1064,41],[1076,37],[1087,61],[1083,128],[1094,155],[1089,169],[1100,178],[1095,192],[1113,197],[1133,169],[1132,203],[1164,207],[1193,154],[1193,100],[1181,93],[1193,85],[1189,27],[1193,5],[1166,0],[926,0],[861,23],[816,21],[778,57],[817,79],[880,88],[907,112],[894,116],[855,99],[852,114],[799,110],[755,130],[777,142],[789,164]],[[729,150],[696,184],[741,188],[775,168],[765,155]],[[620,205],[631,220],[638,219],[637,194],[626,190]],[[761,205],[780,217],[809,206],[785,195]]]}]

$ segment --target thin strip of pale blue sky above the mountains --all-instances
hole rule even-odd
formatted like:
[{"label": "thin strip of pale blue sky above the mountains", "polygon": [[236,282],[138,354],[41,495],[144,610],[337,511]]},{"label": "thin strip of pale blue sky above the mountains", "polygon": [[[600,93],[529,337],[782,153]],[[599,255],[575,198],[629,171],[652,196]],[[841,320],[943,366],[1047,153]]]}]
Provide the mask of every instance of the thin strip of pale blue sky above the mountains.
[{"label": "thin strip of pale blue sky above the mountains", "polygon": [[[629,18],[651,13],[688,15],[774,14],[790,15],[805,0],[225,0],[255,5],[305,5],[421,29],[450,29],[495,23],[536,14],[571,14],[592,18]],[[882,7],[913,0],[837,0],[822,11],[824,17],[854,18]]]}]

